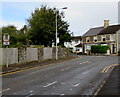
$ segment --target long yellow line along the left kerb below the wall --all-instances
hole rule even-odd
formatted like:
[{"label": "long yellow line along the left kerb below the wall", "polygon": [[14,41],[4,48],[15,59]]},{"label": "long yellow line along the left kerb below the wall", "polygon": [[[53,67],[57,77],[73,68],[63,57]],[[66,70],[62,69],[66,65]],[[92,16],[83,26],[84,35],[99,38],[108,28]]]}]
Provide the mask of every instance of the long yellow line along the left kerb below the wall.
[{"label": "long yellow line along the left kerb below the wall", "polygon": [[[66,61],[62,61],[62,62],[59,62],[59,63],[64,63],[64,62],[71,61],[71,60],[77,60],[77,59],[80,59],[80,58],[81,58],[81,57],[79,57],[79,58],[75,58],[75,59],[66,60]],[[31,67],[31,68],[27,68],[27,69],[22,69],[22,70],[18,70],[18,71],[13,71],[13,72],[6,73],[6,74],[0,74],[0,76],[11,75],[11,74],[14,74],[14,73],[23,72],[23,71],[27,71],[27,70],[31,70],[31,69],[35,69],[35,68],[39,68],[39,67],[42,67],[42,66],[46,66],[46,65],[54,65],[54,64],[58,64],[58,63],[39,65],[39,66],[35,66],[35,67]]]}]

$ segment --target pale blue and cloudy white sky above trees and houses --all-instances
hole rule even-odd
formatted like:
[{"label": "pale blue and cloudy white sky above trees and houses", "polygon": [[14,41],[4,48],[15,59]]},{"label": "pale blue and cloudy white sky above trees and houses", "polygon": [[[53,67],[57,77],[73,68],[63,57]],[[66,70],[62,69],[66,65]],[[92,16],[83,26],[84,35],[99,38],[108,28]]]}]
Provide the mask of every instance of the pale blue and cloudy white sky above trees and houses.
[{"label": "pale blue and cloudy white sky above trees and houses", "polygon": [[[110,25],[118,24],[119,0],[1,0],[0,27],[15,25],[23,27],[35,8],[41,5],[67,7],[64,20],[70,25],[74,36],[83,35],[90,28],[103,26],[104,20],[110,20]],[[60,10],[61,11],[61,10]]]}]

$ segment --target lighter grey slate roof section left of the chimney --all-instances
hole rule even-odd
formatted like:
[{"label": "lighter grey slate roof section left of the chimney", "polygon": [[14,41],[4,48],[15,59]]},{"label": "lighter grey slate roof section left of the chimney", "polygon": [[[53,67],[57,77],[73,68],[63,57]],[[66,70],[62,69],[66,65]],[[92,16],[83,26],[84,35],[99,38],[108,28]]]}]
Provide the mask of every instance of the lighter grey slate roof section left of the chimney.
[{"label": "lighter grey slate roof section left of the chimney", "polygon": [[98,35],[104,27],[91,28],[82,37]]}]

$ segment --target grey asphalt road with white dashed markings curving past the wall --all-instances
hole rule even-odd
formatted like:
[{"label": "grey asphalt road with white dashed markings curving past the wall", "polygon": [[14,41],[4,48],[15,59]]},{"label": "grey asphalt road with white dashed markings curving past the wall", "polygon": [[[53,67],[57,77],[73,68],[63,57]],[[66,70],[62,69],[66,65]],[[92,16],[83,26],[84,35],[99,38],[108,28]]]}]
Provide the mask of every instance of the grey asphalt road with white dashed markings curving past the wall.
[{"label": "grey asphalt road with white dashed markings curving past the wall", "polygon": [[78,59],[39,66],[2,76],[4,95],[93,95],[117,64],[117,56],[80,56]]}]

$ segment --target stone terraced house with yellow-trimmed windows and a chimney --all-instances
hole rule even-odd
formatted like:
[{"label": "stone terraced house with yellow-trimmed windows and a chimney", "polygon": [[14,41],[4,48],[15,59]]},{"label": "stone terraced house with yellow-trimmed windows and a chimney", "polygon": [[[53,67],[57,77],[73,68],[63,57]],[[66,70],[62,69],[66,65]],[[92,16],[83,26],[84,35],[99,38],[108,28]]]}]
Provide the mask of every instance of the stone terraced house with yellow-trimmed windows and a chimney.
[{"label": "stone terraced house with yellow-trimmed windows and a chimney", "polygon": [[104,20],[103,27],[91,28],[82,36],[83,52],[91,50],[91,45],[107,45],[110,54],[120,51],[120,25],[109,25],[109,20]]}]

